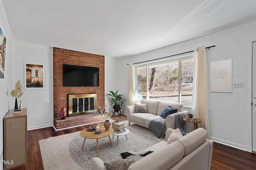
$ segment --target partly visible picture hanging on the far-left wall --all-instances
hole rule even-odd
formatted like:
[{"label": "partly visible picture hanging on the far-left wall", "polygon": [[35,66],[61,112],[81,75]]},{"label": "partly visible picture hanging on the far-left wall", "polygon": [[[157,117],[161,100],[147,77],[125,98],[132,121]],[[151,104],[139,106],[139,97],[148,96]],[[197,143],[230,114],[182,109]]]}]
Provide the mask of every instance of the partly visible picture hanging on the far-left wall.
[{"label": "partly visible picture hanging on the far-left wall", "polygon": [[0,78],[4,78],[5,47],[6,38],[0,27]]}]

